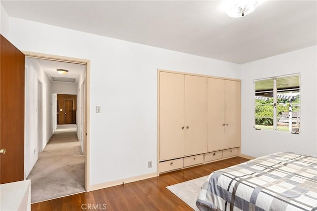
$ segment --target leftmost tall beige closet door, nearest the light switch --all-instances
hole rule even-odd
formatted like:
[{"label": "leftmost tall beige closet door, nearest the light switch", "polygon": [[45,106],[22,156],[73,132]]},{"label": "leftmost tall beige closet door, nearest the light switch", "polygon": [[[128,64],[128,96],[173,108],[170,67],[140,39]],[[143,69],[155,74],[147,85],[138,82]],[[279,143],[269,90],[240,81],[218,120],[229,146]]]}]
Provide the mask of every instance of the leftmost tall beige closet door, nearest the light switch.
[{"label": "leftmost tall beige closet door, nearest the light switch", "polygon": [[184,75],[160,72],[159,76],[159,159],[184,156]]}]

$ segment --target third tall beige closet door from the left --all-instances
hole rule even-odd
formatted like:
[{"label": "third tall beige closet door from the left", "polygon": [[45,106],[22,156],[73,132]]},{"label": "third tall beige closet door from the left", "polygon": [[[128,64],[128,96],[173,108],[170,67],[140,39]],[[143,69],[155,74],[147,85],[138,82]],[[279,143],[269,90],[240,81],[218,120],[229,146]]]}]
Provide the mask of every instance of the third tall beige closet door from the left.
[{"label": "third tall beige closet door from the left", "polygon": [[207,86],[207,150],[211,152],[224,148],[225,80],[208,78]]}]

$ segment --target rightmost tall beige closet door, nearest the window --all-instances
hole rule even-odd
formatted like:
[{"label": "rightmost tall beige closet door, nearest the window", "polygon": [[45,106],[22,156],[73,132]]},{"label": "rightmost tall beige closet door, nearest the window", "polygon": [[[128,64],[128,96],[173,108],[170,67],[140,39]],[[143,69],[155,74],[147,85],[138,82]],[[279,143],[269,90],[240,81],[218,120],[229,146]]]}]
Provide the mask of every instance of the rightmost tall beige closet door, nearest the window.
[{"label": "rightmost tall beige closet door, nearest the window", "polygon": [[240,146],[240,82],[225,81],[225,148]]}]

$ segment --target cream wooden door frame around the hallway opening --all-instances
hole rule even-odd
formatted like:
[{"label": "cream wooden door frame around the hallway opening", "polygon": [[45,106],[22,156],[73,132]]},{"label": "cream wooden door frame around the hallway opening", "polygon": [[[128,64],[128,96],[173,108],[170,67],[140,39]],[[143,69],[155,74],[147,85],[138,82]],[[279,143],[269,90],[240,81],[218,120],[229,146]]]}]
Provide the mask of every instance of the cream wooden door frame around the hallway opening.
[{"label": "cream wooden door frame around the hallway opening", "polygon": [[30,51],[22,51],[25,57],[47,59],[53,61],[70,62],[75,64],[86,65],[86,77],[85,77],[85,106],[84,106],[84,155],[85,155],[85,190],[89,192],[90,188],[90,60],[80,59],[74,57],[58,56]]}]

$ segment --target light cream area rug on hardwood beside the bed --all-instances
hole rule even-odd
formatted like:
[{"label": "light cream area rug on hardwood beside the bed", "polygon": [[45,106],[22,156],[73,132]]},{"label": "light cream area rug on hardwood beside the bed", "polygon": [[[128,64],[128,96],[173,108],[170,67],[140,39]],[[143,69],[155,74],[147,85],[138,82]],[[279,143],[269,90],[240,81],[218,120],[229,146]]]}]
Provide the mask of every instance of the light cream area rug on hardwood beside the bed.
[{"label": "light cream area rug on hardwood beside the bed", "polygon": [[196,200],[199,191],[202,189],[202,185],[206,181],[207,176],[199,177],[197,179],[188,180],[175,185],[167,186],[166,188],[180,198],[183,202],[193,208],[195,211],[199,211],[196,206]]}]

